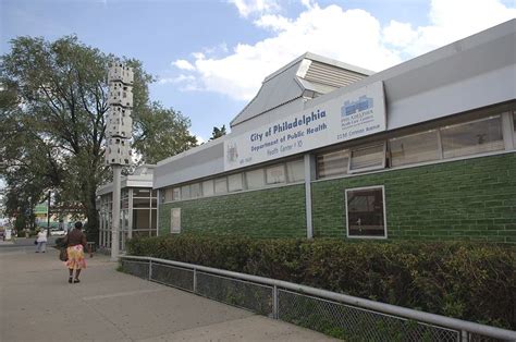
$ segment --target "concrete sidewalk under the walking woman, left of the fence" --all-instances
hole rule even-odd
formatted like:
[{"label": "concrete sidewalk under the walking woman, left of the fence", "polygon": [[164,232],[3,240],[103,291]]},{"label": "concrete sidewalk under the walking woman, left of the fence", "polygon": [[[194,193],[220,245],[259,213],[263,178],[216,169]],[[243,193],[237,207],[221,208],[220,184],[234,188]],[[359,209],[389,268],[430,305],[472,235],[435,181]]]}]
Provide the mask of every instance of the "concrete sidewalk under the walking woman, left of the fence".
[{"label": "concrete sidewalk under the walking woman, left of the fence", "polygon": [[53,248],[0,253],[0,341],[333,341],[87,261],[69,284]]}]

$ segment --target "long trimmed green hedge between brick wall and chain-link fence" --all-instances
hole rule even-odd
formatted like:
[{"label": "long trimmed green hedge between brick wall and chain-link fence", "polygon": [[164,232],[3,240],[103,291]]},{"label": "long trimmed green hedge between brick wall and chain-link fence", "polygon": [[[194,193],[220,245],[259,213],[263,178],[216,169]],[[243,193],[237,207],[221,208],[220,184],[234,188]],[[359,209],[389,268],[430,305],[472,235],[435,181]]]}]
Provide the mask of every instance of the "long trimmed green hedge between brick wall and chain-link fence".
[{"label": "long trimmed green hedge between brick wall and chain-link fence", "polygon": [[128,253],[280,279],[516,329],[514,247],[181,234],[132,240]]}]

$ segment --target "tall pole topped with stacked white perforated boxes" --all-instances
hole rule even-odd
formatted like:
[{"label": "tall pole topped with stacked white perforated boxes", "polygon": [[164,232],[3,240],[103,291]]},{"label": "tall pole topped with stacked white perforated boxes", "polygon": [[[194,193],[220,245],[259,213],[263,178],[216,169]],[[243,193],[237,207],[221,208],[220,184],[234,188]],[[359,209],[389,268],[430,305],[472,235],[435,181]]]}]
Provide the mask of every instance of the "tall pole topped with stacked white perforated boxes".
[{"label": "tall pole topped with stacked white perforated boxes", "polygon": [[122,166],[131,164],[130,139],[133,135],[133,69],[120,62],[108,73],[109,109],[107,124],[106,164],[113,169],[113,209],[111,220],[111,261],[119,260],[120,249],[120,178]]}]

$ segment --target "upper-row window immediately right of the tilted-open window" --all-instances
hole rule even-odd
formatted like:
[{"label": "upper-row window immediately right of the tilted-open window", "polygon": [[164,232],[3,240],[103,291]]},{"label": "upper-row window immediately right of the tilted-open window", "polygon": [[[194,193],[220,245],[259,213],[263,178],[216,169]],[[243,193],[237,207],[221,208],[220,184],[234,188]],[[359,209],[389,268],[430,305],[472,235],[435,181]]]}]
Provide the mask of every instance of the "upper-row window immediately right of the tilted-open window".
[{"label": "upper-row window immediately right of the tilted-open window", "polygon": [[393,167],[440,158],[439,137],[435,130],[392,138],[389,141],[389,146]]}]

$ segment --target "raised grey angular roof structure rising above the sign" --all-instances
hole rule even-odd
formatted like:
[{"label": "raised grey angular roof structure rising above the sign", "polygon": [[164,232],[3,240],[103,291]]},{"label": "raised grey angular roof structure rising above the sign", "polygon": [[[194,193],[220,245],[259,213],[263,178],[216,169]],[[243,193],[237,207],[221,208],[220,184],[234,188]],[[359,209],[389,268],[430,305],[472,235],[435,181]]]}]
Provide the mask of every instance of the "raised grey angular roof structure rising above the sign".
[{"label": "raised grey angular roof structure rising above the sign", "polygon": [[298,98],[315,98],[352,84],[373,72],[311,52],[267,76],[258,94],[231,121],[234,126]]}]

